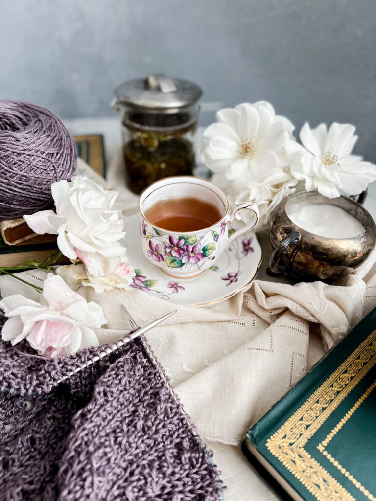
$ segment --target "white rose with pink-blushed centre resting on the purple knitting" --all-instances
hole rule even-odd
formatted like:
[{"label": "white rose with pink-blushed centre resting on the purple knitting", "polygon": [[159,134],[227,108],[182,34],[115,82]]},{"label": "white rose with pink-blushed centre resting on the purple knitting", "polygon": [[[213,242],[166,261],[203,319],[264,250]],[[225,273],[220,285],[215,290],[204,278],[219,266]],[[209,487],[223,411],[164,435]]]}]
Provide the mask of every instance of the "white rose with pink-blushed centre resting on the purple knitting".
[{"label": "white rose with pink-blushed centre resting on the purple knitting", "polygon": [[98,346],[93,329],[107,323],[100,305],[87,303],[61,277],[51,273],[44,282],[40,303],[15,294],[2,299],[0,308],[8,317],[3,339],[12,345],[26,339],[39,355],[48,358]]}]

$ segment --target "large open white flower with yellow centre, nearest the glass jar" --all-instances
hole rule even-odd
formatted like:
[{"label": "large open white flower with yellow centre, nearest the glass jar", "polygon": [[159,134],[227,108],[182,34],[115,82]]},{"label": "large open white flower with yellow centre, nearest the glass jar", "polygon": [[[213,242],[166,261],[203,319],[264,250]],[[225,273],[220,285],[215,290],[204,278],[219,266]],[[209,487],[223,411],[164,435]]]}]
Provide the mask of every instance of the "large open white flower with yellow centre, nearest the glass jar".
[{"label": "large open white flower with yellow centre, nearest the glass jar", "polygon": [[220,110],[217,121],[204,131],[202,161],[225,189],[241,192],[288,165],[285,148],[294,142],[294,127],[270,103]]}]

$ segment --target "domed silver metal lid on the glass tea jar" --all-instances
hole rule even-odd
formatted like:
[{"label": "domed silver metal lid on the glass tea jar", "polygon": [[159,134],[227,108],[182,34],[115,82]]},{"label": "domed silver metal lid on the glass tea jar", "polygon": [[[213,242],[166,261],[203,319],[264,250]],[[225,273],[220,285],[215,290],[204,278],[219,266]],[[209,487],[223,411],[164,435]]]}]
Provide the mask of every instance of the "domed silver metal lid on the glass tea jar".
[{"label": "domed silver metal lid on the glass tea jar", "polygon": [[201,88],[187,80],[164,75],[149,75],[130,80],[115,90],[116,105],[150,111],[171,112],[195,104],[202,96]]}]

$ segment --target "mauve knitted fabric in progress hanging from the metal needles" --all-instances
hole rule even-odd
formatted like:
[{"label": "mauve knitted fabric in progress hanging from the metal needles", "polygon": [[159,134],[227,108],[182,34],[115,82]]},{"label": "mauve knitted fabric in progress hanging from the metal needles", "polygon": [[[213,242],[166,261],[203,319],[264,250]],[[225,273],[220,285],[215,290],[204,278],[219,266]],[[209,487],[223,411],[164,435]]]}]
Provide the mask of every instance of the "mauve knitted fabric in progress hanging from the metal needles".
[{"label": "mauve knitted fabric in progress hanging from the metal needles", "polygon": [[46,361],[0,339],[1,501],[215,501],[210,454],[145,340]]}]

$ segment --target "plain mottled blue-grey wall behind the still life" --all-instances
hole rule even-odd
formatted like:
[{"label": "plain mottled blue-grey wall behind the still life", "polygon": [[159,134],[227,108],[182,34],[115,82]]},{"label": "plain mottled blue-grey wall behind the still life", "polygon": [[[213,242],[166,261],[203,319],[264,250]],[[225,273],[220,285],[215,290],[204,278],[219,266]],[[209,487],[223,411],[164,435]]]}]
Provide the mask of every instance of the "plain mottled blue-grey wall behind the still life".
[{"label": "plain mottled blue-grey wall behind the still life", "polygon": [[3,0],[0,97],[110,116],[118,84],[165,73],[204,101],[266,99],[297,129],[352,123],[375,162],[375,21],[375,0]]}]

